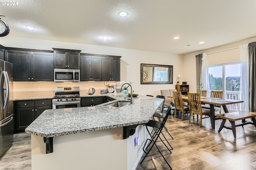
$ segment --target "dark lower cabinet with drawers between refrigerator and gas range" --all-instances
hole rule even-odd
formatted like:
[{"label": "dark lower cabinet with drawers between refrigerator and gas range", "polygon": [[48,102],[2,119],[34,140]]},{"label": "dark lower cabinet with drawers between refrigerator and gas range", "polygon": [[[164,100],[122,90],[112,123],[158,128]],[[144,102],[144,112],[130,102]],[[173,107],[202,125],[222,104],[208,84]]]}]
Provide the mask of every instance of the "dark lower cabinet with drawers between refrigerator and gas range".
[{"label": "dark lower cabinet with drawers between refrigerator and gas range", "polygon": [[24,131],[46,109],[52,109],[52,100],[14,101],[14,131]]}]

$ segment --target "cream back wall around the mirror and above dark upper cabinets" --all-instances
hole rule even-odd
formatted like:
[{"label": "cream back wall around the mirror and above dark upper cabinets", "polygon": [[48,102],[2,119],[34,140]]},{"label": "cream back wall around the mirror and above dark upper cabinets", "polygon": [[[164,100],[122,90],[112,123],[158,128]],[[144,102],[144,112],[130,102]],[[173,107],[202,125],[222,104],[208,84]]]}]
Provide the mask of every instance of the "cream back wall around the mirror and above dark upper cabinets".
[{"label": "cream back wall around the mirror and above dark upper cabinets", "polygon": [[[41,39],[29,39],[29,38],[11,37],[11,36],[1,37],[0,44],[5,47],[40,49],[40,50],[50,50],[50,51],[53,51],[52,48],[76,49],[76,50],[82,50],[81,53],[122,56],[121,62],[120,62],[120,67],[121,67],[120,79],[126,80],[128,82],[130,81],[134,82],[132,84],[132,88],[134,92],[141,95],[150,94],[150,95],[156,96],[160,94],[161,89],[174,89],[176,84],[176,76],[178,74],[181,74],[180,81],[189,80],[189,79],[187,80],[183,74],[183,64],[184,64],[183,55],[159,53],[159,52],[152,52],[152,51],[141,51],[141,50],[134,50],[134,49],[123,49],[123,48],[115,48],[115,47],[105,47],[105,46],[98,46],[98,45],[86,45],[86,44],[78,44],[78,43],[48,41],[48,40],[41,40]],[[174,84],[156,84],[156,85],[140,84],[140,64],[141,63],[173,65]],[[28,84],[26,84],[26,88],[27,88],[26,90],[28,91],[31,91],[31,89],[29,88],[30,84],[34,86],[33,82],[28,82]],[[106,89],[106,86],[104,86],[104,82],[102,82],[102,85],[100,83],[91,83],[91,84],[94,88]],[[36,86],[39,86],[39,85],[37,84]],[[86,88],[88,88],[89,86],[90,84],[87,83]],[[54,82],[52,82],[49,88],[50,90],[54,90],[54,87],[55,87],[55,84]],[[14,90],[15,89],[20,89],[19,82],[16,82],[14,84]],[[24,90],[24,88],[22,89]]]}]

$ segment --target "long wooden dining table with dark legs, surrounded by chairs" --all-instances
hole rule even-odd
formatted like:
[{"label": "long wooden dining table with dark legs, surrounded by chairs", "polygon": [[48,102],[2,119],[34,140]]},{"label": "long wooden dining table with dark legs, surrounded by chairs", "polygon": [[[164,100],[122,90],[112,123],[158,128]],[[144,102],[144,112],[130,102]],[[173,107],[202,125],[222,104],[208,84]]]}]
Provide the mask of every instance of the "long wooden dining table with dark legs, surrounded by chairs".
[{"label": "long wooden dining table with dark legs, surrounded by chairs", "polygon": [[[173,96],[168,96],[168,98],[173,98]],[[188,102],[188,96],[182,96],[182,100],[184,102]],[[210,119],[212,124],[212,129],[215,129],[215,111],[214,111],[214,105],[220,105],[223,107],[223,110],[225,113],[228,113],[228,108],[226,105],[229,104],[237,104],[237,103],[243,103],[242,100],[231,100],[231,99],[220,99],[220,98],[205,98],[202,97],[201,99],[202,104],[209,104],[210,105]],[[219,119],[219,118],[217,118]]]}]

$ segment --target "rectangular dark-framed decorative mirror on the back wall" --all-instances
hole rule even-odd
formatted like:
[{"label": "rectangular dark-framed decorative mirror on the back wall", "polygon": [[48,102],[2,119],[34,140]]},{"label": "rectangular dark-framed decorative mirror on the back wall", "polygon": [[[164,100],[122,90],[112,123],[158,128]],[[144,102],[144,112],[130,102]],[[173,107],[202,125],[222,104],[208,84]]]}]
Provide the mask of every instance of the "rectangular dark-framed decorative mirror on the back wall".
[{"label": "rectangular dark-framed decorative mirror on the back wall", "polygon": [[140,64],[140,84],[173,84],[173,66]]}]

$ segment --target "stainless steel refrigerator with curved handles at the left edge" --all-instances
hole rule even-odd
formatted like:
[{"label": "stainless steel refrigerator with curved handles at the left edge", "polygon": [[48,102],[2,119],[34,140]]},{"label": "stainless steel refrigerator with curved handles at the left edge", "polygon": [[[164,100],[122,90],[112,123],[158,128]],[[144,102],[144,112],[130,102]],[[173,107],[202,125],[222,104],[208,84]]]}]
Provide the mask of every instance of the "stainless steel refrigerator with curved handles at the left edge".
[{"label": "stainless steel refrigerator with curved handles at the left edge", "polygon": [[13,143],[13,64],[0,60],[0,156]]}]

